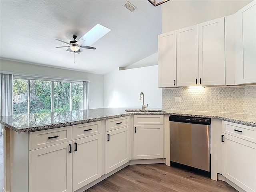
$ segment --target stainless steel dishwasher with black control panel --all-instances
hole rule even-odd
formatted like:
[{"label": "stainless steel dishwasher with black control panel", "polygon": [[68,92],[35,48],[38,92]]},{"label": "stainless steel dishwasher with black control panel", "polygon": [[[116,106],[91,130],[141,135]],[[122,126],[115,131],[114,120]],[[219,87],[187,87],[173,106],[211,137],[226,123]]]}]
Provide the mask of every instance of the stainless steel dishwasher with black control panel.
[{"label": "stainless steel dishwasher with black control panel", "polygon": [[171,165],[185,165],[210,175],[210,119],[171,115]]}]

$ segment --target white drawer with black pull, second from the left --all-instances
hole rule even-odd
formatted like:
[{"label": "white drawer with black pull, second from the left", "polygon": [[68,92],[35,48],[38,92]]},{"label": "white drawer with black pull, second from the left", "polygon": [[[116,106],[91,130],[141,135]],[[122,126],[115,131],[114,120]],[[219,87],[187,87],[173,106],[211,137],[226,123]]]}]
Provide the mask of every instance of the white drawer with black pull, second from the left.
[{"label": "white drawer with black pull, second from the left", "polygon": [[72,128],[73,140],[96,135],[104,131],[101,121],[73,125]]}]

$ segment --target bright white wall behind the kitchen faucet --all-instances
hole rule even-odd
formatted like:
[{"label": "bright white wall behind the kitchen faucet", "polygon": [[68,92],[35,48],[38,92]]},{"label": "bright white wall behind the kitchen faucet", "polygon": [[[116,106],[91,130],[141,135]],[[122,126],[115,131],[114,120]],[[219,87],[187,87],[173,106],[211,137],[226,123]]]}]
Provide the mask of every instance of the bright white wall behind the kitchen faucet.
[{"label": "bright white wall behind the kitchen faucet", "polygon": [[162,108],[162,88],[158,88],[158,66],[113,70],[104,75],[104,107]]}]

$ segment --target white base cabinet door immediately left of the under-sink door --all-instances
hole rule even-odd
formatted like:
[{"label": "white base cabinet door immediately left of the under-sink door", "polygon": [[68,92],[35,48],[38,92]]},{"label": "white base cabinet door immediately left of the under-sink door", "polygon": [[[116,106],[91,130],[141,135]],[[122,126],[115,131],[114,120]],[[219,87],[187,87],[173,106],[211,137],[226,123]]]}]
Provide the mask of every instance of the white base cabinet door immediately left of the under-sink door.
[{"label": "white base cabinet door immediately left of the under-sink door", "polygon": [[106,132],[105,174],[130,160],[129,126]]}]

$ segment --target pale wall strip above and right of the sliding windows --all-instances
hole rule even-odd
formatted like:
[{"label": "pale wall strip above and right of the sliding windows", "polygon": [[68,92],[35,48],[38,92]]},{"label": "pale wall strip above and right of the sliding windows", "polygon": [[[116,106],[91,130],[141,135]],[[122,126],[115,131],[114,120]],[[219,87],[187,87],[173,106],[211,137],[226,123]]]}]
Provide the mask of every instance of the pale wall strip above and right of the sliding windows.
[{"label": "pale wall strip above and right of the sliding windows", "polygon": [[0,60],[0,71],[90,80],[89,108],[103,107],[103,75],[32,65],[9,60]]}]

